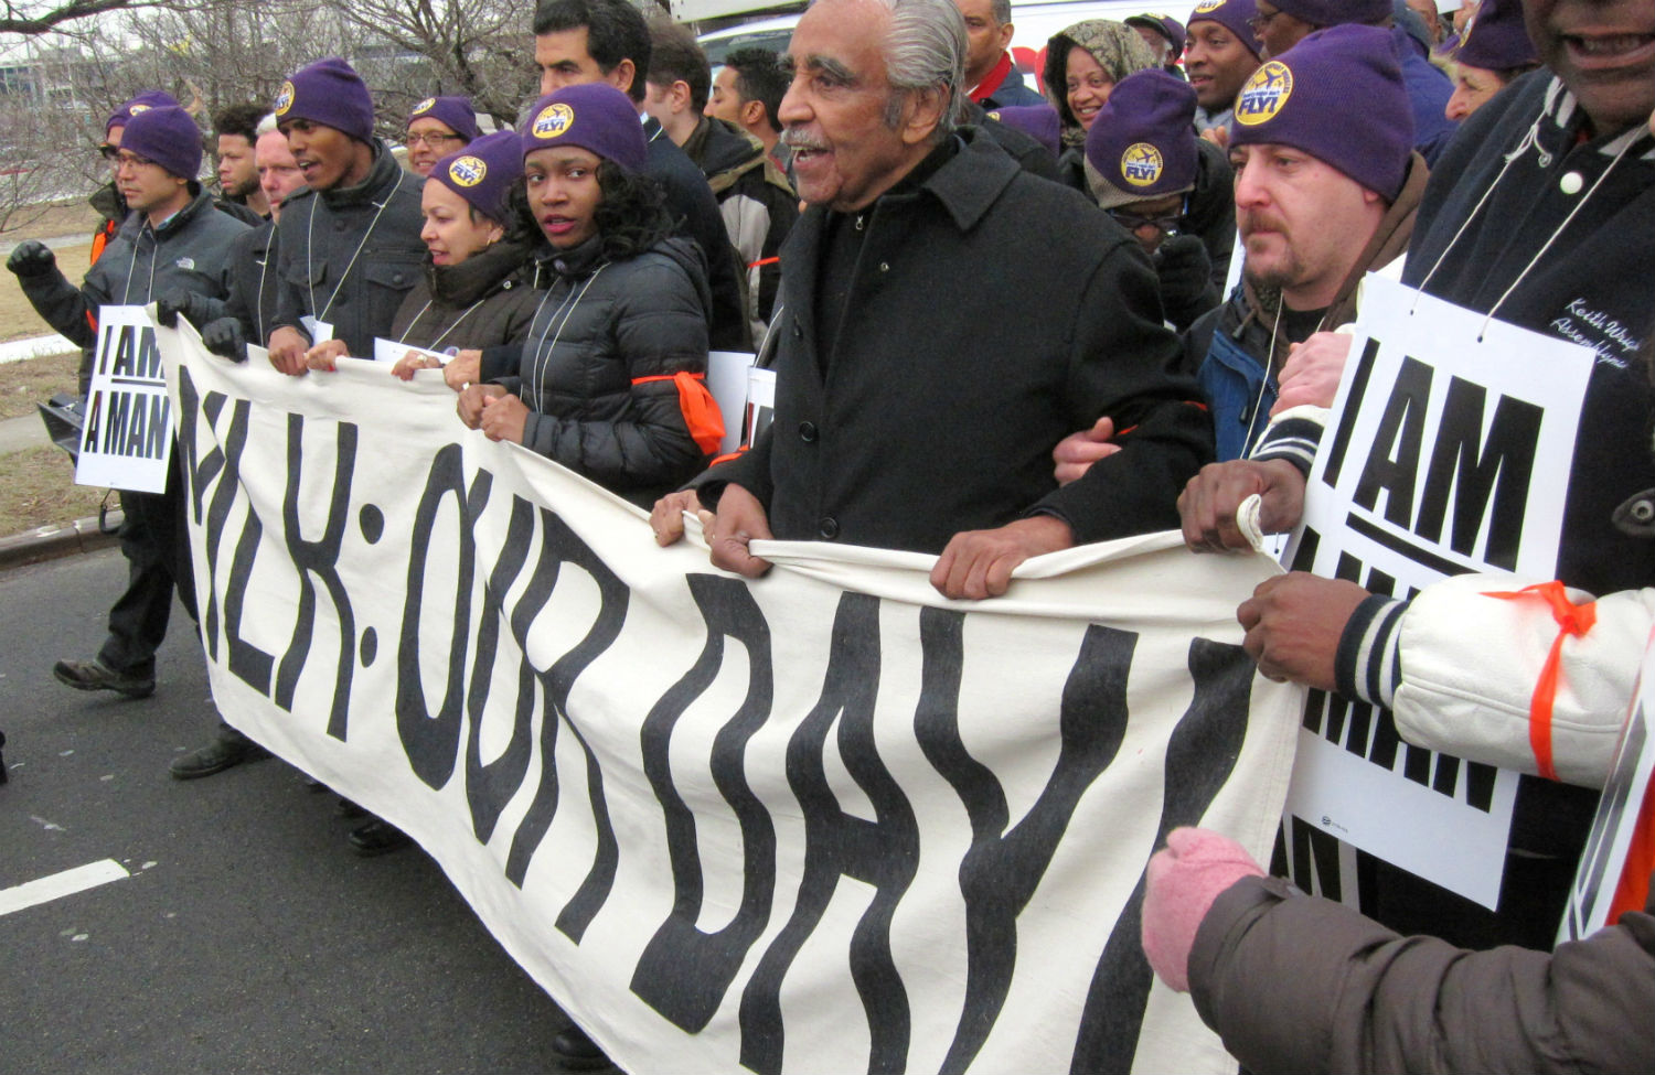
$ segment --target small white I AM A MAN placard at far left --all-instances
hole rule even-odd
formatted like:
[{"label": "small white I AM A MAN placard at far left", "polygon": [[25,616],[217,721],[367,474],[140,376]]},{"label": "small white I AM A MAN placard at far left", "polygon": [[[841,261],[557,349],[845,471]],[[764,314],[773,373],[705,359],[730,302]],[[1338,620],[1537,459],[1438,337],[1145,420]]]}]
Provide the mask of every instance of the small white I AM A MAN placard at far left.
[{"label": "small white I AM A MAN placard at far left", "polygon": [[156,322],[142,306],[103,306],[74,483],[162,493],[170,458],[172,404]]}]

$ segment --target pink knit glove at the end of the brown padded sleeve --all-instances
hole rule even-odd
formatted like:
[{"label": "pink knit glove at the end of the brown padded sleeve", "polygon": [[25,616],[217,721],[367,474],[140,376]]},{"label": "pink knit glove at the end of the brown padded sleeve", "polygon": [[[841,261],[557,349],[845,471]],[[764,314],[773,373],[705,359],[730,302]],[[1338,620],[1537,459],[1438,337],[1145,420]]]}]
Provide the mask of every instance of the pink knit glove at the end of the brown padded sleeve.
[{"label": "pink knit glove at the end of the brown padded sleeve", "polygon": [[1195,931],[1218,893],[1243,877],[1264,877],[1246,848],[1206,829],[1173,829],[1149,860],[1144,886],[1144,954],[1160,981],[1190,991]]}]

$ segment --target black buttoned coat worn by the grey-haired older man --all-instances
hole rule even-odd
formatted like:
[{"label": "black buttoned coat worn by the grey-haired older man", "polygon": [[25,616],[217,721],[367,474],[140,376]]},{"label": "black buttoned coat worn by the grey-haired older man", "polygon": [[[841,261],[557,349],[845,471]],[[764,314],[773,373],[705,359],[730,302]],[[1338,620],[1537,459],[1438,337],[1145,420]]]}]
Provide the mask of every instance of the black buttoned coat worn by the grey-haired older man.
[{"label": "black buttoned coat worn by the grey-haired older man", "polygon": [[[981,132],[962,129],[950,150],[864,210],[831,356],[814,324],[826,210],[799,218],[771,327],[775,423],[698,480],[702,499],[733,481],[776,538],[917,552],[1028,513],[1064,519],[1076,544],[1177,526],[1213,433],[1173,372],[1149,260]],[[1059,490],[1053,447],[1102,415],[1130,430],[1122,450]]]}]

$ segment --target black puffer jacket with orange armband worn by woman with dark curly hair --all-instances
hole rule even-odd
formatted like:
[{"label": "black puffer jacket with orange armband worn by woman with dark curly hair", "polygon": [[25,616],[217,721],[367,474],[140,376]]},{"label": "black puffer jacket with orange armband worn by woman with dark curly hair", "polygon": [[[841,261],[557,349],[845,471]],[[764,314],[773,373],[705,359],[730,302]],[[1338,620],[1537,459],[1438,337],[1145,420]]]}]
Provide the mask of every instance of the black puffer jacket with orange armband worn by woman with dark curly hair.
[{"label": "black puffer jacket with orange armband worn by woman with dark curly hair", "polygon": [[[707,372],[712,296],[700,251],[665,238],[624,261],[596,240],[549,261],[515,377],[523,445],[637,504],[705,463],[679,407],[674,374]],[[487,367],[487,362],[485,362]],[[660,377],[660,380],[645,380]]]}]

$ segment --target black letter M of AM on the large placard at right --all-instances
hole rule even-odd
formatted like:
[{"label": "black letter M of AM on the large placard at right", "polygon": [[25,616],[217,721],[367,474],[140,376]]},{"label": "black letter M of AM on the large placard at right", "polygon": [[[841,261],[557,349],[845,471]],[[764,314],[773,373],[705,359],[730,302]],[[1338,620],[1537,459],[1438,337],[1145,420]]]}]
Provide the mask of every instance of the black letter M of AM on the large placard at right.
[{"label": "black letter M of AM on the large placard at right", "polygon": [[1501,395],[1494,405],[1488,440],[1483,442],[1486,397],[1488,390],[1470,380],[1453,377],[1448,382],[1448,399],[1443,404],[1442,427],[1425,475],[1425,494],[1420,498],[1420,518],[1413,533],[1427,541],[1442,542],[1451,490],[1453,536],[1448,547],[1461,556],[1471,556],[1483,529],[1483,516],[1493,501],[1485,559],[1494,567],[1514,571],[1544,412],[1526,400]]}]

